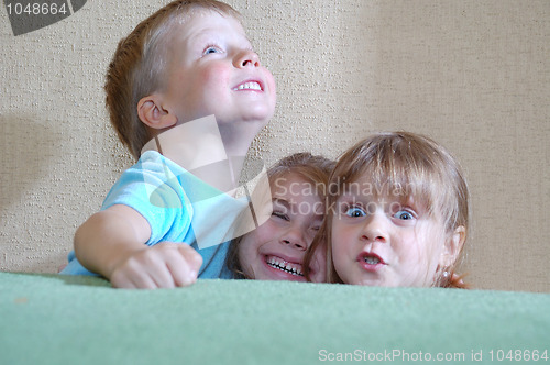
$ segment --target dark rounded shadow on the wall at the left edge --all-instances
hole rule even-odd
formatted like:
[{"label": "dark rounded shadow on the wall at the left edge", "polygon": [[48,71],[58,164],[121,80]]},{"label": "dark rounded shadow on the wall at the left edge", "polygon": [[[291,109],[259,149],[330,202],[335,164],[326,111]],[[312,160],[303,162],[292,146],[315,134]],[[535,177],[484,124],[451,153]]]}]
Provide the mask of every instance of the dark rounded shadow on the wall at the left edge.
[{"label": "dark rounded shadow on the wall at the left edge", "polygon": [[56,131],[37,117],[0,115],[0,211],[21,202],[24,191],[44,176],[54,155]]}]

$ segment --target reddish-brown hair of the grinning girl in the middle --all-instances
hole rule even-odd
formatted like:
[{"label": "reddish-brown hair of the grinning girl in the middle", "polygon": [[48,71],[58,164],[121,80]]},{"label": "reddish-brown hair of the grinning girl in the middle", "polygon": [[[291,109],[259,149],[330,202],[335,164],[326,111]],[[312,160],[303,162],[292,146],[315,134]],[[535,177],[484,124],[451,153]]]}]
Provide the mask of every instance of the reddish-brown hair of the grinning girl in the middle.
[{"label": "reddish-brown hair of the grinning girl in the middle", "polygon": [[[273,190],[273,186],[277,181],[284,184],[284,179],[289,174],[296,174],[311,184],[314,188],[309,191],[319,196],[321,201],[323,201],[329,175],[334,164],[332,159],[312,155],[308,152],[295,153],[275,163],[267,170],[267,177]],[[235,279],[253,279],[253,277],[248,277],[244,274],[243,263],[239,259],[239,246],[244,236],[242,235],[231,242],[226,259],[226,265]]]}]

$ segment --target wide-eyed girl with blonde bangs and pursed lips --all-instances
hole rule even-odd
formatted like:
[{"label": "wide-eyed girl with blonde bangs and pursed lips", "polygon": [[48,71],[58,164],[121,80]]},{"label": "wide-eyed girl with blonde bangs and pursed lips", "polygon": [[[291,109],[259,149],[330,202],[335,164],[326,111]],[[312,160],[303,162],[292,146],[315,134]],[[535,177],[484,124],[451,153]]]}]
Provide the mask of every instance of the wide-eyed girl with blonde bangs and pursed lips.
[{"label": "wide-eyed girl with blonde bangs and pursed lips", "polygon": [[330,283],[461,286],[453,273],[469,191],[443,147],[414,133],[376,134],[340,157],[328,186],[323,240],[311,252],[326,252]]}]

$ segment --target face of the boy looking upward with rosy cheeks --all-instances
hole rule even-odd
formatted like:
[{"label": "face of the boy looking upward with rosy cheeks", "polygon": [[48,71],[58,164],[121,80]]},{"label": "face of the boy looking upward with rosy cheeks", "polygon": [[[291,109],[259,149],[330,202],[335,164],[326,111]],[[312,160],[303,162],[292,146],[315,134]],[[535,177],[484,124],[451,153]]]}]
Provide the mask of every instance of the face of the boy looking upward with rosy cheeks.
[{"label": "face of the boy looking upward with rosy cheeks", "polygon": [[170,47],[165,109],[178,122],[215,114],[218,123],[258,122],[275,110],[273,75],[260,64],[239,21],[215,11],[197,11]]}]

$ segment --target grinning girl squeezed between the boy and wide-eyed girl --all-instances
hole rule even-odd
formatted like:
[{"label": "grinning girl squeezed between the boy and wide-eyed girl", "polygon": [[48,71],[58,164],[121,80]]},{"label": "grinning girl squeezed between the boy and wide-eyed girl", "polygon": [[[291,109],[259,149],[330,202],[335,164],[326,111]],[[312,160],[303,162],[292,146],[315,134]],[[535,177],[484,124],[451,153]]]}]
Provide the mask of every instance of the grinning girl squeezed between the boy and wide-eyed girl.
[{"label": "grinning girl squeezed between the boy and wide-eyed girl", "polygon": [[[267,170],[273,212],[256,230],[234,240],[228,268],[234,278],[306,281],[304,258],[324,218],[327,180],[334,162],[297,153]],[[311,255],[312,281],[326,280],[324,253]]]}]

